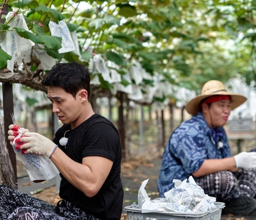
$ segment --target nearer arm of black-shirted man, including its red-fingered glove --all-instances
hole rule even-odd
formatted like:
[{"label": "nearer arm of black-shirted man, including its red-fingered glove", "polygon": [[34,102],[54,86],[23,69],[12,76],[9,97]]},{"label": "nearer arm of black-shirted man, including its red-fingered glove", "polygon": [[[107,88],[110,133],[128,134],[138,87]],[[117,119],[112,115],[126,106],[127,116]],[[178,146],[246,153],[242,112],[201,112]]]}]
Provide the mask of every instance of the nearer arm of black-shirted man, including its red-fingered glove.
[{"label": "nearer arm of black-shirted man, including its red-fingered glove", "polygon": [[[26,136],[25,136],[26,135]],[[100,156],[84,157],[82,164],[69,158],[57,145],[45,136],[26,132],[17,139],[16,149],[49,157],[59,172],[86,196],[99,192],[112,168],[112,160]]]}]

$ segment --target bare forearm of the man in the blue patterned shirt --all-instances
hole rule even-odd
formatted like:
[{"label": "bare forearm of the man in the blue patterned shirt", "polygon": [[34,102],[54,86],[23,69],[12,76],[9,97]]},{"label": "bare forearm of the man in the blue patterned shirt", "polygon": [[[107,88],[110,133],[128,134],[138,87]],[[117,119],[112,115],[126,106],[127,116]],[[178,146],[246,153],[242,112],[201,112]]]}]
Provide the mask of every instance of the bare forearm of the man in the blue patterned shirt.
[{"label": "bare forearm of the man in the blue patterned shirt", "polygon": [[230,172],[236,172],[239,170],[235,166],[234,157],[222,158],[222,159],[207,159],[203,162],[201,167],[194,173],[193,177],[202,177],[209,175],[210,173],[216,173],[222,170],[228,170]]}]

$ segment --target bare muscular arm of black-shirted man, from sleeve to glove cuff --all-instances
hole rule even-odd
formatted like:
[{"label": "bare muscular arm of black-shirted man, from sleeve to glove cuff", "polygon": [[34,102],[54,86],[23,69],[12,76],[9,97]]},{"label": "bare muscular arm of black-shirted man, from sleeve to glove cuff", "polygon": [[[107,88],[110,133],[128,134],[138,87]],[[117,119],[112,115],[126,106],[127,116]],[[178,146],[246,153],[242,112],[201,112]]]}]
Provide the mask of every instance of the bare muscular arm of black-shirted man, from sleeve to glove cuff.
[{"label": "bare muscular arm of black-shirted man, from sleeve to glove cuff", "polygon": [[51,156],[51,161],[67,181],[87,197],[95,196],[99,192],[113,165],[112,160],[100,156],[84,157],[80,164],[58,147]]}]

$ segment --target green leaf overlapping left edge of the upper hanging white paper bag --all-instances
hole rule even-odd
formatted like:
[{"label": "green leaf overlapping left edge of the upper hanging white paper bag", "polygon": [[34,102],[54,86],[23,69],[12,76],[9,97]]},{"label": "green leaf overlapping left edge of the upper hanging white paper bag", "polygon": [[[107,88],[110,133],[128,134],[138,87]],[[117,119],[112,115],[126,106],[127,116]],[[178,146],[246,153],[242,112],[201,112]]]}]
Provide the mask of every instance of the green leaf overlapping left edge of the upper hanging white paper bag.
[{"label": "green leaf overlapping left edge of the upper hanging white paper bag", "polygon": [[44,45],[50,49],[59,50],[61,48],[61,37],[46,35],[43,29],[38,25],[33,25],[34,32],[44,42]]}]

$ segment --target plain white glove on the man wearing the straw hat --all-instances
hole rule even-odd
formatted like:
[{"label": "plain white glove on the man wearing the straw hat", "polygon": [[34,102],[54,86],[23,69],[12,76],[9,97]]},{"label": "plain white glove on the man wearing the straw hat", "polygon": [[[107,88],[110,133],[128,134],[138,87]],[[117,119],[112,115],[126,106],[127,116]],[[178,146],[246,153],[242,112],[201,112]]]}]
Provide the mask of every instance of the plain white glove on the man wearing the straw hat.
[{"label": "plain white glove on the man wearing the straw hat", "polygon": [[256,168],[256,152],[241,152],[234,156],[236,167],[244,169]]}]

